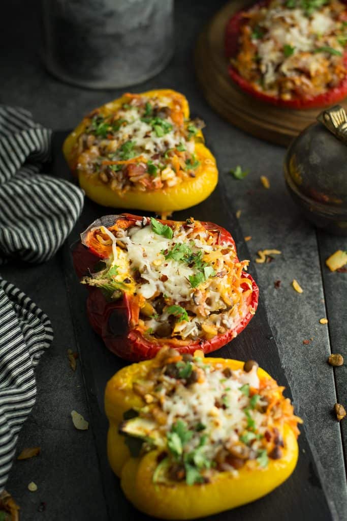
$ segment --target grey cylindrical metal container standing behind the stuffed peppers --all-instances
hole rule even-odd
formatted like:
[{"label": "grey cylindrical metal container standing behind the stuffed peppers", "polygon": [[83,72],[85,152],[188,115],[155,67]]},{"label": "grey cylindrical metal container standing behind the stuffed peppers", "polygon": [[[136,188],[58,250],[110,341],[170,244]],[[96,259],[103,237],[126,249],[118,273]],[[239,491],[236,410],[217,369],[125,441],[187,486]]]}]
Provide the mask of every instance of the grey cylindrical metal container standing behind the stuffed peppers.
[{"label": "grey cylindrical metal container standing behind the stuffed peppers", "polygon": [[42,0],[42,18],[45,65],[75,85],[141,83],[174,51],[173,0]]}]

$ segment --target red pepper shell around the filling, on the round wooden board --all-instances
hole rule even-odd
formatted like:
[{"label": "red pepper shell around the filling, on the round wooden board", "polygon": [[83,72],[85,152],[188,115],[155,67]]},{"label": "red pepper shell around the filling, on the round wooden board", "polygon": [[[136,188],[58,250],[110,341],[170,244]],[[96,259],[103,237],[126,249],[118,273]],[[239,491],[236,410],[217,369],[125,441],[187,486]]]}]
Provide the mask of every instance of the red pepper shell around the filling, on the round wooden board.
[{"label": "red pepper shell around the filling, on the round wooden board", "polygon": [[[252,8],[256,5],[266,6],[269,2],[262,0],[256,4],[252,5]],[[232,18],[229,19],[226,29],[225,29],[225,55],[227,58],[235,58],[239,48],[239,36],[240,29],[242,23],[247,19],[247,15],[245,18],[245,13],[247,10],[242,9],[238,11]],[[347,21],[347,11],[345,15],[345,19]],[[344,52],[343,55],[343,64],[347,69],[347,51]],[[295,97],[291,100],[284,100],[279,96],[269,95],[265,92],[256,89],[255,86],[243,78],[238,70],[230,64],[228,67],[229,76],[232,80],[239,86],[242,91],[247,92],[252,97],[263,101],[265,103],[270,103],[271,105],[276,105],[278,107],[288,107],[292,109],[305,109],[305,108],[316,108],[316,107],[325,107],[328,105],[333,105],[341,100],[343,100],[347,96],[347,75],[342,79],[342,81],[332,88],[330,88],[327,92],[318,94],[315,96],[305,96],[305,97]]]}]

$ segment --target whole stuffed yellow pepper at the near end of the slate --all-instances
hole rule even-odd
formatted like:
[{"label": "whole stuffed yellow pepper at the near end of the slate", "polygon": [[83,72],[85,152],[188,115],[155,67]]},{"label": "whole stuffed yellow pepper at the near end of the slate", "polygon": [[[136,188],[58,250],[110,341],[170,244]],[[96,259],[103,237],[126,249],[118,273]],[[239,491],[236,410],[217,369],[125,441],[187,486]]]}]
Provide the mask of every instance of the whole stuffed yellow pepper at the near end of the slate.
[{"label": "whole stuffed yellow pepper at the near end of the slate", "polygon": [[298,459],[284,388],[254,361],[181,355],[121,369],[108,382],[108,457],[139,510],[192,519],[260,498]]}]

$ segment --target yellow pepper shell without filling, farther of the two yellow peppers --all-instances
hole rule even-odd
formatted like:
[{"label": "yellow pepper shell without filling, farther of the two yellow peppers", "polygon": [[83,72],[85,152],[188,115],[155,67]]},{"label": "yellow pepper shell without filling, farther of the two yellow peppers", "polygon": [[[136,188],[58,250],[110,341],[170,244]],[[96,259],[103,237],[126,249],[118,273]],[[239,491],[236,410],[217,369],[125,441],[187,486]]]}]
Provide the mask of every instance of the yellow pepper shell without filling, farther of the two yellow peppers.
[{"label": "yellow pepper shell without filling, farther of the two yellow peppers", "polygon": [[[182,94],[170,89],[159,89],[144,92],[145,96],[175,96],[182,105],[184,118],[189,118],[189,105]],[[126,101],[126,96],[122,96],[99,108],[102,116],[107,116],[119,110]],[[113,208],[136,208],[146,210],[147,212],[171,213],[176,210],[182,210],[194,206],[213,192],[218,181],[218,170],[216,160],[203,142],[196,142],[195,155],[200,165],[195,170],[195,178],[190,178],[171,188],[164,190],[152,191],[127,191],[119,192],[111,190],[111,188],[99,180],[98,174],[86,175],[86,173],[76,169],[76,157],[74,154],[74,146],[88,126],[89,119],[84,118],[78,127],[75,128],[63,144],[63,154],[67,160],[69,167],[75,175],[78,175],[80,187],[85,191],[86,195],[102,206]],[[198,140],[203,141],[202,132],[196,134]]]}]

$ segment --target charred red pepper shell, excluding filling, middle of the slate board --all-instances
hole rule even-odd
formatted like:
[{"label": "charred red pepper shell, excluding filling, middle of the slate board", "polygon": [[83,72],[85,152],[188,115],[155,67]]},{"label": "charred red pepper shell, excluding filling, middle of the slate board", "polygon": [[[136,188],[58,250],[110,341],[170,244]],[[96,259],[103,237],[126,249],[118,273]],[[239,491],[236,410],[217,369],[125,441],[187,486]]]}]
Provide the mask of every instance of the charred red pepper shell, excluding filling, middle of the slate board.
[{"label": "charred red pepper shell, excluding filling, middle of the slate board", "polygon": [[[110,215],[101,217],[94,221],[82,234],[73,251],[73,263],[77,275],[82,278],[88,273],[95,273],[97,261],[108,259],[112,255],[111,245],[99,242],[98,230],[104,226],[108,230],[127,229],[134,226],[136,222],[142,222],[147,218],[130,214]],[[174,227],[185,225],[186,222],[160,220],[162,224]],[[232,235],[211,222],[201,222],[205,230],[218,235],[219,244],[225,242],[236,246]],[[235,262],[238,258],[235,256]],[[241,268],[239,268],[241,270]],[[140,324],[139,313],[144,307],[144,300],[134,292],[122,292],[117,300],[109,300],[104,292],[98,287],[88,286],[87,315],[93,329],[104,340],[107,348],[113,353],[131,361],[139,361],[156,356],[163,346],[170,346],[182,353],[194,353],[201,349],[204,353],[210,353],[233,340],[253,317],[258,306],[259,289],[255,281],[247,272],[241,270],[240,288],[243,312],[235,327],[224,333],[213,334],[210,338],[199,338],[198,340],[184,340],[177,338],[156,338],[153,334],[146,334]],[[242,296],[245,295],[245,296]]]}]

